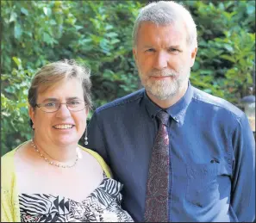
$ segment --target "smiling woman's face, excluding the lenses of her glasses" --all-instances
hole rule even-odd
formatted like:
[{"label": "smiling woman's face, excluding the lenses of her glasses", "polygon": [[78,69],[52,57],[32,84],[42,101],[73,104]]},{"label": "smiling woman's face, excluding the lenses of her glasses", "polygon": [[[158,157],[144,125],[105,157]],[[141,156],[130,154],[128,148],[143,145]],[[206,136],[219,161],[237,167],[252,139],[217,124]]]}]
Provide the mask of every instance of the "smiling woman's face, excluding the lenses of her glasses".
[{"label": "smiling woman's face, excluding the lenses of her glasses", "polygon": [[[78,99],[84,101],[84,91],[76,78],[64,80],[45,91],[38,90],[37,104],[45,102],[66,103]],[[41,108],[29,108],[29,116],[34,123],[34,138],[47,145],[77,145],[85,127],[88,108],[70,111],[66,104],[61,104],[58,111],[46,113]]]}]

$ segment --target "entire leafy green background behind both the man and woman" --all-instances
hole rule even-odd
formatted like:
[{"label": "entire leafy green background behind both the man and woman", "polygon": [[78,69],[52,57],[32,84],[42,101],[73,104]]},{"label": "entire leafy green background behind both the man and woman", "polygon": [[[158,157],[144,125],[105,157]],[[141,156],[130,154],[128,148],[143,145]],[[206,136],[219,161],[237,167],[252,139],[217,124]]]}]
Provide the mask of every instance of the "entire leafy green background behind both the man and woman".
[{"label": "entire leafy green background behind both the man and woman", "polygon": [[[88,65],[95,108],[141,88],[131,36],[149,2],[1,1],[1,155],[31,139],[28,87],[48,62]],[[197,24],[191,84],[243,110],[254,105],[255,121],[255,2],[177,2]]]}]

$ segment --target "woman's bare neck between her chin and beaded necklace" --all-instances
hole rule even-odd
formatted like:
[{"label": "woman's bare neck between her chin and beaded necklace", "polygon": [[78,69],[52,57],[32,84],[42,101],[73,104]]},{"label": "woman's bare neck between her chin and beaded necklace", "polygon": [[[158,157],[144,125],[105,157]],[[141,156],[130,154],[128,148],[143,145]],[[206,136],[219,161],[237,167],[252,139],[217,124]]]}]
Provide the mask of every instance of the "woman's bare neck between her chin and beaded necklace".
[{"label": "woman's bare neck between her chin and beaded necklace", "polygon": [[78,145],[56,146],[54,144],[45,144],[40,139],[37,139],[36,136],[34,136],[34,144],[41,153],[53,161],[69,163],[73,162],[77,157],[76,148]]}]

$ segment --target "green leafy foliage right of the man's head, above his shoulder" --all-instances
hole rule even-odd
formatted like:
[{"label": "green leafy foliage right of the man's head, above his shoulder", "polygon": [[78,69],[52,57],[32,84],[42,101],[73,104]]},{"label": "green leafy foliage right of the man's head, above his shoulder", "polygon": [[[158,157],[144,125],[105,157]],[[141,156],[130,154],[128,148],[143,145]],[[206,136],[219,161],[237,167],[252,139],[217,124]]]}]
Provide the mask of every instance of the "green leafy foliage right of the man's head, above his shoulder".
[{"label": "green leafy foliage right of the man's head, above his shoulder", "polygon": [[188,1],[197,23],[198,53],[190,77],[200,89],[239,104],[253,86],[255,2]]}]

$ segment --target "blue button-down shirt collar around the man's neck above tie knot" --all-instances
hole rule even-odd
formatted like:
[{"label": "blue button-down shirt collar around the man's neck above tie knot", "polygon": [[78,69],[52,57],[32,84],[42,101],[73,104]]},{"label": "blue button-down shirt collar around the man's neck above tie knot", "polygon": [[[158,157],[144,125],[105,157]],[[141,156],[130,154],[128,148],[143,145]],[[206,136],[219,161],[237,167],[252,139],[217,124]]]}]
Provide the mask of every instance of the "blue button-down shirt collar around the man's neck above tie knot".
[{"label": "blue button-down shirt collar around the man's neck above tie knot", "polygon": [[[173,104],[169,108],[165,108],[166,112],[173,118],[174,121],[182,122],[184,121],[184,115],[186,113],[186,109],[188,108],[191,99],[193,96],[193,88],[188,82],[188,89],[186,90],[184,96],[178,100],[175,104]],[[147,96],[146,90],[144,90],[144,102],[147,108],[147,113],[150,115],[152,119],[155,118],[155,115],[162,109],[157,104],[151,101],[151,99]]]}]

